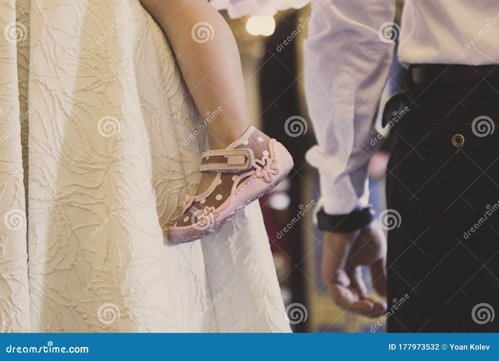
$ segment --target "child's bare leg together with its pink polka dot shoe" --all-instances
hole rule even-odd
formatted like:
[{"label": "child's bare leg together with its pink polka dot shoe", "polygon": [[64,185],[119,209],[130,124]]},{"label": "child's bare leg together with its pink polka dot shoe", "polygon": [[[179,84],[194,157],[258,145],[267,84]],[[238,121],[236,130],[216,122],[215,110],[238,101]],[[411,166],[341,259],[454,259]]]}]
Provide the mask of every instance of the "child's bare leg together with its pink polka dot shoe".
[{"label": "child's bare leg together with its pink polka dot shoe", "polygon": [[[186,195],[182,215],[168,229],[174,242],[194,241],[275,187],[293,160],[275,139],[254,128],[245,132],[250,116],[239,51],[218,11],[207,0],[141,1],[171,41],[200,113],[223,109],[207,124],[212,151],[241,142],[232,152],[204,154],[196,195]],[[196,32],[197,25],[208,28],[208,39]]]}]

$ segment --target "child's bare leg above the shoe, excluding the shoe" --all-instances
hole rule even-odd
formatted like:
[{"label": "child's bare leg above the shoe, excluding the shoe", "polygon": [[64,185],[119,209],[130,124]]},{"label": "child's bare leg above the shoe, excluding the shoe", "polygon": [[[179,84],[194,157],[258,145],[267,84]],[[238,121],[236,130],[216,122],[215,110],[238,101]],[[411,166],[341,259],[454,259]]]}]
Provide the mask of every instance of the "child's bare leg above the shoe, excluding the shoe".
[{"label": "child's bare leg above the shoe, excluding the shoe", "polygon": [[[212,149],[225,149],[249,126],[250,115],[239,50],[222,15],[207,0],[141,0],[162,26],[201,115],[220,106],[220,114],[207,123]],[[192,36],[193,27],[207,22],[213,39]],[[202,25],[201,25],[202,26]],[[205,25],[207,26],[207,25]],[[201,33],[202,35],[202,33]],[[200,36],[201,36],[200,35]]]}]

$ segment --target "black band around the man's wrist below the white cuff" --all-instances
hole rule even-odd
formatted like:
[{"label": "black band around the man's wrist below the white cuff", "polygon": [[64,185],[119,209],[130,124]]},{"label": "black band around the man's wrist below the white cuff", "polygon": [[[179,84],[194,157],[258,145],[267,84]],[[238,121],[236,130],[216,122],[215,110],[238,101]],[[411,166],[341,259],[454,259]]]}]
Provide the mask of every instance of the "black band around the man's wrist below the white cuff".
[{"label": "black band around the man's wrist below the white cuff", "polygon": [[372,204],[362,210],[336,215],[325,213],[321,207],[317,212],[317,226],[322,231],[353,232],[368,226],[374,213]]}]

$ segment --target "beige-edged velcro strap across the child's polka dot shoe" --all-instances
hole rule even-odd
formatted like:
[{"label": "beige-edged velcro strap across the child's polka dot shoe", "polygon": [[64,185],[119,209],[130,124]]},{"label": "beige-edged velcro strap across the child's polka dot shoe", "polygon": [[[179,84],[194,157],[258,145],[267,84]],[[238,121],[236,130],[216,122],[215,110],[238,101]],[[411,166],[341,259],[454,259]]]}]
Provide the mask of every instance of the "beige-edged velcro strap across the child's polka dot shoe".
[{"label": "beige-edged velcro strap across the child's polka dot shoe", "polygon": [[253,164],[251,149],[209,150],[201,155],[202,172],[241,172],[250,169]]}]

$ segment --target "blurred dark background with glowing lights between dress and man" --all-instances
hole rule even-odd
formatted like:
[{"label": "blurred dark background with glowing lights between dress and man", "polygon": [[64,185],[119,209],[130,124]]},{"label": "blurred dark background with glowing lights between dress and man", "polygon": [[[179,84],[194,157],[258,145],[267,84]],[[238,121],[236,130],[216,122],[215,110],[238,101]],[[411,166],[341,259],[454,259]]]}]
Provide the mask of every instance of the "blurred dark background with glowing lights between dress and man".
[{"label": "blurred dark background with glowing lights between dress and man", "polygon": [[[399,1],[398,19],[401,7]],[[385,332],[382,319],[353,316],[333,305],[320,276],[322,235],[313,224],[313,208],[320,189],[317,172],[304,157],[315,144],[304,98],[301,55],[311,20],[310,7],[279,12],[273,17],[231,20],[226,16],[226,19],[239,44],[253,125],[283,143],[294,159],[294,169],[288,178],[260,199],[293,331]],[[396,56],[392,75],[395,73],[397,76],[385,89],[379,114],[386,100],[399,87],[404,88],[404,71]],[[379,131],[380,118],[376,122]],[[377,213],[385,209],[384,178],[389,149],[387,141],[376,155],[380,161],[370,166],[371,202]],[[369,285],[369,275],[366,273],[364,277]],[[375,326],[378,321],[381,326]]]}]

